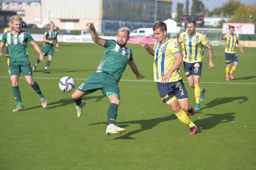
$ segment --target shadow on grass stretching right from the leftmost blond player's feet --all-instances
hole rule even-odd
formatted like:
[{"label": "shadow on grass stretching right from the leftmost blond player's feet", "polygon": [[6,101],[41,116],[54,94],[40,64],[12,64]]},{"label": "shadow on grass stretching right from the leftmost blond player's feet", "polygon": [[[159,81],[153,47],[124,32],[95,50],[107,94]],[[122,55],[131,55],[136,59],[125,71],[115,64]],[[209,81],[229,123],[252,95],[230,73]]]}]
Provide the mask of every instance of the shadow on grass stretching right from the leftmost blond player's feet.
[{"label": "shadow on grass stretching right from the leftmost blond player's feet", "polygon": [[[83,100],[96,99],[94,102],[98,102],[98,101],[102,100],[103,98],[105,98],[105,96],[103,96],[103,95],[101,95],[101,96],[85,96],[85,97],[83,97]],[[47,100],[47,98],[46,98],[46,100]],[[74,104],[74,100],[71,98],[71,95],[70,95],[70,98],[65,98],[65,99],[61,99],[61,100],[56,101],[56,102],[47,103],[46,109],[53,109],[55,107],[66,106],[68,104]],[[42,107],[42,106],[30,107],[26,110],[39,108],[39,107]]]}]

